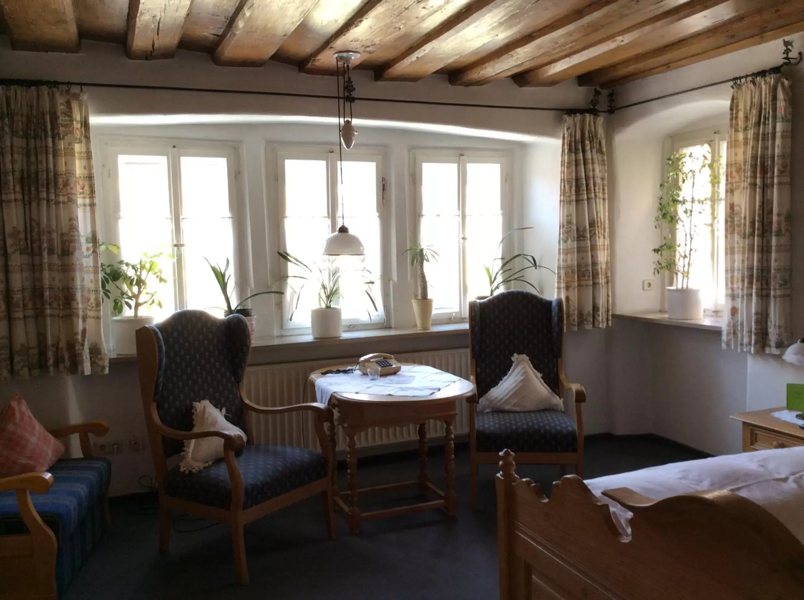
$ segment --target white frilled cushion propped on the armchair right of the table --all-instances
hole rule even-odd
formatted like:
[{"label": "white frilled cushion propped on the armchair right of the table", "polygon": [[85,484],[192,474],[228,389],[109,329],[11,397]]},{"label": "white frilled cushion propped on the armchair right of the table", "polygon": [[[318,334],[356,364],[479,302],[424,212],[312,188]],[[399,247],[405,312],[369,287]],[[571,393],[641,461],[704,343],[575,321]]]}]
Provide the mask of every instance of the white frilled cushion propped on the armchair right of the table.
[{"label": "white frilled cushion propped on the armchair right of the table", "polygon": [[480,398],[481,412],[564,410],[564,400],[542,381],[541,374],[533,368],[527,356],[515,354],[511,360],[514,364],[508,374]]}]

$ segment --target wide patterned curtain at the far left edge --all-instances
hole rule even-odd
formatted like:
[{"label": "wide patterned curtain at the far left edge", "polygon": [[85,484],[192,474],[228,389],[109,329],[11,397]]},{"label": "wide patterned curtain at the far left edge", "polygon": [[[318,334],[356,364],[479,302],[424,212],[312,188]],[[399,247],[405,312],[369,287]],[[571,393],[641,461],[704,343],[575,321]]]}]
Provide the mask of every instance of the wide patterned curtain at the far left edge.
[{"label": "wide patterned curtain at the far left edge", "polygon": [[89,110],[0,86],[0,379],[107,373]]}]

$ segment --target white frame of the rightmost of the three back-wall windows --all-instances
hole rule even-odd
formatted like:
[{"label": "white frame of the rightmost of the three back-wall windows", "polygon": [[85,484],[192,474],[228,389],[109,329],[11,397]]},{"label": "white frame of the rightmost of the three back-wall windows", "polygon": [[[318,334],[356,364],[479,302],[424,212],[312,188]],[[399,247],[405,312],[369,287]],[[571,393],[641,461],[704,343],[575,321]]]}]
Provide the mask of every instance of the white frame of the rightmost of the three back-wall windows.
[{"label": "white frame of the rightmost of the three back-wall windows", "polygon": [[[457,311],[433,311],[433,323],[446,323],[456,321],[466,321],[469,316],[469,284],[466,276],[466,164],[467,163],[493,163],[500,165],[501,185],[500,190],[500,211],[503,215],[503,231],[500,231],[500,238],[511,231],[511,154],[506,150],[483,150],[483,149],[414,149],[410,153],[411,180],[413,183],[414,198],[413,205],[413,227],[412,239],[409,246],[420,241],[421,225],[421,165],[425,162],[445,162],[457,164],[458,169],[458,202],[460,203],[460,223],[461,230],[457,243],[461,244],[458,256],[461,257],[460,265],[460,303]],[[503,243],[503,253],[510,252],[512,244],[515,243],[511,235]],[[413,277],[413,273],[410,273]]]}]

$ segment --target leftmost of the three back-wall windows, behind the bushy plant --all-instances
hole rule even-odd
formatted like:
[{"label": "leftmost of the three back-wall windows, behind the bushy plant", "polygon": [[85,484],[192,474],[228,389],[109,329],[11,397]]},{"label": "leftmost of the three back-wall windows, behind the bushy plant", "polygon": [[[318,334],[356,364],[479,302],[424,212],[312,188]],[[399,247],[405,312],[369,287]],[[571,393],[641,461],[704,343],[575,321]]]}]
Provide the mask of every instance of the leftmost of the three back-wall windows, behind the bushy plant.
[{"label": "leftmost of the three back-wall windows, behind the bushy plant", "polygon": [[[103,241],[117,243],[118,257],[136,263],[158,259],[167,283],[157,286],[162,308],[157,320],[181,308],[220,314],[223,297],[208,259],[228,259],[238,280],[234,243],[236,148],[232,145],[118,141],[105,145],[103,165],[107,206]],[[236,284],[231,286],[238,296]]]}]

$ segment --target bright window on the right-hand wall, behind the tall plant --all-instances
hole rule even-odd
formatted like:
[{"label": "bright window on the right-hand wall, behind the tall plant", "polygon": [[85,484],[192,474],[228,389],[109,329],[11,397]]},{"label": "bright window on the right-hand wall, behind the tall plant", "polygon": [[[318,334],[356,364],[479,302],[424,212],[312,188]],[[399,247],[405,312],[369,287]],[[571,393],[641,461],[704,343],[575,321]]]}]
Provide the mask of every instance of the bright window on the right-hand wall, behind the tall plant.
[{"label": "bright window on the right-hand wall, behind the tall plant", "polygon": [[676,228],[681,231],[695,228],[692,244],[689,287],[699,289],[704,308],[716,311],[724,304],[725,271],[725,136],[718,132],[697,133],[673,140],[673,151],[686,154],[684,168],[695,171],[687,179],[682,194],[685,198],[704,198],[700,210],[694,210],[691,221],[682,215]]}]

